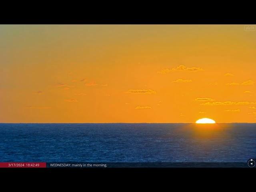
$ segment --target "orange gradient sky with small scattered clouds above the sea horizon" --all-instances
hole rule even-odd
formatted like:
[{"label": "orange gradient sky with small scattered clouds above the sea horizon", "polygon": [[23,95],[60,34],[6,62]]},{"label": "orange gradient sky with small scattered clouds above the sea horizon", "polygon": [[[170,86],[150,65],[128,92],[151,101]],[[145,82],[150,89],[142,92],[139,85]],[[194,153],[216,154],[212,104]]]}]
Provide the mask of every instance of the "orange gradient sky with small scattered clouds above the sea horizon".
[{"label": "orange gradient sky with small scattered clouds above the sea horizon", "polygon": [[0,122],[256,122],[244,25],[0,25]]}]

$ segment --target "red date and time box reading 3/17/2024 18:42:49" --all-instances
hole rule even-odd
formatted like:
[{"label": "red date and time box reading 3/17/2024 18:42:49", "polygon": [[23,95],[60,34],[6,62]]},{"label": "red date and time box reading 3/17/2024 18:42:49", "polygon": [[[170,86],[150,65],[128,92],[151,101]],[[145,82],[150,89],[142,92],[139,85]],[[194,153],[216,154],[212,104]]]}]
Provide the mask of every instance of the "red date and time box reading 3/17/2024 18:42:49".
[{"label": "red date and time box reading 3/17/2024 18:42:49", "polygon": [[46,168],[46,162],[0,162],[0,168]]}]

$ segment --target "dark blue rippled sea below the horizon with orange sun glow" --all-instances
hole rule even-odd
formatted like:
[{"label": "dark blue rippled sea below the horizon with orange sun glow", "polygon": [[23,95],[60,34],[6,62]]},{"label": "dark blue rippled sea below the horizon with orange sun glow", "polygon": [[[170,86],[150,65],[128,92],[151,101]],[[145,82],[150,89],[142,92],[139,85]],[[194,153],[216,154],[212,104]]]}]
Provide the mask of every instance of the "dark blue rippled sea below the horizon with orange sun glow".
[{"label": "dark blue rippled sea below the horizon with orange sun glow", "polygon": [[0,124],[0,162],[246,162],[256,124]]}]

